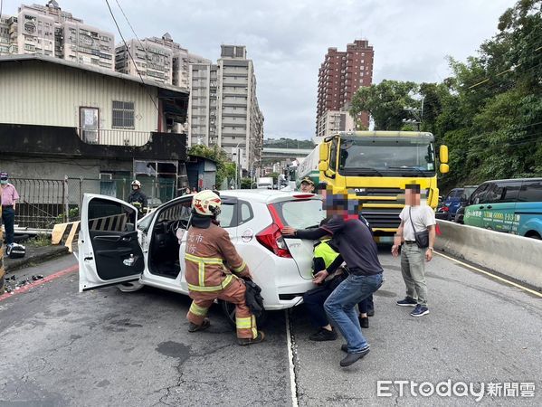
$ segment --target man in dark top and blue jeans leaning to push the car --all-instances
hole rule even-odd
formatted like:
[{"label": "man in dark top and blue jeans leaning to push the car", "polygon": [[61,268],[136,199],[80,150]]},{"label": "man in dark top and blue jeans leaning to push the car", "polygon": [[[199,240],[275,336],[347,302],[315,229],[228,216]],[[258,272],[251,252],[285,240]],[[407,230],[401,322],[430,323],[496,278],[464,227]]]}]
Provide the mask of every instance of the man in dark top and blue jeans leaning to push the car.
[{"label": "man in dark top and blue jeans leaning to push the car", "polygon": [[347,194],[326,194],[324,205],[332,218],[316,230],[282,229],[284,235],[316,240],[331,234],[350,272],[324,304],[329,320],[347,340],[341,349],[347,357],[340,361],[343,367],[354,364],[369,353],[369,345],[361,333],[355,310],[356,304],[380,288],[383,269],[378,260],[376,242],[369,228],[359,220],[359,207],[348,201]]}]

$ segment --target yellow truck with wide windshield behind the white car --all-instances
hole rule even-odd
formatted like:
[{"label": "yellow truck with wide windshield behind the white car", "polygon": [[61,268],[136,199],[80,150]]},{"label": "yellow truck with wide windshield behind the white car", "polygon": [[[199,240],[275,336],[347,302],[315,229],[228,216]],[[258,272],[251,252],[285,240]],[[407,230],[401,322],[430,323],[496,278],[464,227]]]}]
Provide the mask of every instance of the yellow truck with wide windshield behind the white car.
[{"label": "yellow truck with wide windshield behind the white car", "polygon": [[[439,155],[440,172],[447,173],[448,147],[441,146]],[[378,242],[393,242],[405,185],[420,185],[433,209],[439,200],[434,137],[427,132],[339,132],[324,138],[300,164],[298,178],[307,175],[359,200]]]}]

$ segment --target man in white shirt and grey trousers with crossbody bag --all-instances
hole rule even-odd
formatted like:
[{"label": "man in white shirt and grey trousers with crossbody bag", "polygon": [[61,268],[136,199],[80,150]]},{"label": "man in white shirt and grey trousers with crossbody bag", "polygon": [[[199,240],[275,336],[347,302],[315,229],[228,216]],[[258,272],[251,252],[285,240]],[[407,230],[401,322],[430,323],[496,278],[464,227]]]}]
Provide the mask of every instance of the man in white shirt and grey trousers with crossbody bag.
[{"label": "man in white shirt and grey trousers with crossbody bag", "polygon": [[[405,206],[399,214],[401,225],[395,235],[392,254],[399,255],[401,246],[401,271],[406,285],[406,298],[397,301],[400,307],[415,307],[410,313],[413,317],[429,314],[427,308],[427,284],[425,283],[425,261],[433,259],[435,225],[433,209],[421,203],[420,185],[406,185]],[[414,226],[414,227],[413,227]],[[418,247],[415,232],[429,232],[429,246]]]}]

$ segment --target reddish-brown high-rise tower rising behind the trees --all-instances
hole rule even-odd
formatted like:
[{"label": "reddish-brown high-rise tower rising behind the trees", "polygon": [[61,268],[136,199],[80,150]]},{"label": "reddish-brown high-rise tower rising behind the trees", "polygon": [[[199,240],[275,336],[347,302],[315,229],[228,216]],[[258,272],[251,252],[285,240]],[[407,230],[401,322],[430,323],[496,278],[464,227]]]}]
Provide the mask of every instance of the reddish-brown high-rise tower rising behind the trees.
[{"label": "reddish-brown high-rise tower rising behind the trees", "polygon": [[[373,46],[366,40],[356,40],[347,44],[347,51],[338,51],[337,48],[328,48],[328,53],[319,69],[318,104],[317,104],[317,131],[316,139],[328,136],[337,128],[326,126],[329,121],[327,112],[346,112],[352,97],[362,86],[371,86],[373,82],[373,59],[375,52]],[[369,125],[366,112],[360,115],[360,121]],[[342,122],[347,124],[345,118]],[[346,128],[341,128],[346,130]]]}]

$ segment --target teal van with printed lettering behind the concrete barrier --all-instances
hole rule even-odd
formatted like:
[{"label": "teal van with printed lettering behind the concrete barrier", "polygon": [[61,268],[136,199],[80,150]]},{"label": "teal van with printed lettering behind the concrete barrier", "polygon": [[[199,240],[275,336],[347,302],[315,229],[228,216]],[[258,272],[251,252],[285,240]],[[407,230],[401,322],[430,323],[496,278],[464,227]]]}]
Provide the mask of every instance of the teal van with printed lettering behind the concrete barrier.
[{"label": "teal van with printed lettering behind the concrete barrier", "polygon": [[465,224],[540,239],[542,178],[487,181],[471,194]]}]

